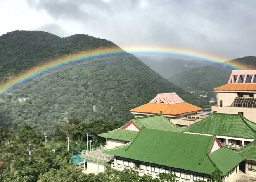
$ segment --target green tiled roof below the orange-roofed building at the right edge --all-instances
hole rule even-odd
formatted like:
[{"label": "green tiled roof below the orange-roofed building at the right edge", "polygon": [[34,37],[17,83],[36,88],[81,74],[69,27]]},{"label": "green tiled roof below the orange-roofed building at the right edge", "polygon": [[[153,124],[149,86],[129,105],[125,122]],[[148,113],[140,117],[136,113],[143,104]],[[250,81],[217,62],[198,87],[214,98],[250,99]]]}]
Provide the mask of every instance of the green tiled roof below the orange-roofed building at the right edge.
[{"label": "green tiled roof below the orange-roofed building at the right edge", "polygon": [[210,133],[241,138],[256,138],[256,123],[239,114],[213,113],[185,128],[195,133]]}]

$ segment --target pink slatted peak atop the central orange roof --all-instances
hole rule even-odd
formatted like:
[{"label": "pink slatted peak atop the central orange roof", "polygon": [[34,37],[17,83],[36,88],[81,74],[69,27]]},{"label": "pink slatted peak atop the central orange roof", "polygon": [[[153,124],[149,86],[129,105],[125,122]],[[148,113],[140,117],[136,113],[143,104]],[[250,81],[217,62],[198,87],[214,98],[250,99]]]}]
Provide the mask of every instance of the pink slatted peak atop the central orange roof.
[{"label": "pink slatted peak atop the central orange roof", "polygon": [[184,100],[180,98],[175,92],[173,93],[160,93],[157,94],[154,99],[152,99],[149,103],[156,104],[176,104],[182,103]]}]

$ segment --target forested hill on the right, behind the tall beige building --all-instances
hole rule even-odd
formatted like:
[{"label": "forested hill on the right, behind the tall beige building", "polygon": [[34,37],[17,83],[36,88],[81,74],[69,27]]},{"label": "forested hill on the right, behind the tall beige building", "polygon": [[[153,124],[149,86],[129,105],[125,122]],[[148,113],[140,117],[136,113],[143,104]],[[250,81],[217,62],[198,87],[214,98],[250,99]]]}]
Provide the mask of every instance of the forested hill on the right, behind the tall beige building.
[{"label": "forested hill on the right, behind the tall beige building", "polygon": [[[247,56],[227,61],[231,65],[243,65],[248,69],[256,68],[256,56]],[[178,73],[168,78],[168,80],[178,87],[189,92],[195,91],[199,94],[215,97],[214,88],[224,85],[228,82],[232,70],[216,65],[194,68],[189,71]],[[207,93],[206,93],[207,92]]]}]

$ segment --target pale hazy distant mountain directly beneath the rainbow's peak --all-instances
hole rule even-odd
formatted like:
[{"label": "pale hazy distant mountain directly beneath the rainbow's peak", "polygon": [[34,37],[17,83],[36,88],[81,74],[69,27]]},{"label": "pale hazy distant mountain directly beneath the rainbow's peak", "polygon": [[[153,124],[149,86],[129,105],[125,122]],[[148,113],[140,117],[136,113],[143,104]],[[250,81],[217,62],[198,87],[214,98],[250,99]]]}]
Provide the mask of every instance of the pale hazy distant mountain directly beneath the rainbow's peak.
[{"label": "pale hazy distant mountain directly beneath the rainbow's peak", "polygon": [[[137,56],[135,54],[135,56]],[[169,78],[175,74],[183,71],[189,71],[194,68],[209,65],[207,62],[200,60],[185,60],[177,59],[171,56],[161,57],[149,57],[149,56],[137,56],[143,63],[148,65],[152,70],[159,73],[164,78]]]}]

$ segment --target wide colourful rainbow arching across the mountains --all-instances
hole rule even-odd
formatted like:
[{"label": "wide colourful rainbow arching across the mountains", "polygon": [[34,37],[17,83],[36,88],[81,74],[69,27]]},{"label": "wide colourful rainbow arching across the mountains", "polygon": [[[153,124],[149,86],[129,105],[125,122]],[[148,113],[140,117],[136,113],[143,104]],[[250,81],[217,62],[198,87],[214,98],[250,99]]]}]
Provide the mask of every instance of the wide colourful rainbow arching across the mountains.
[{"label": "wide colourful rainbow arching across the mountains", "polygon": [[[126,51],[123,51],[123,49]],[[14,78],[10,78],[8,82],[0,85],[0,96],[23,85],[26,82],[29,82],[33,78],[40,77],[41,75],[48,73],[52,70],[59,69],[63,66],[72,65],[74,63],[80,63],[83,61],[95,60],[98,58],[111,57],[111,56],[120,56],[127,55],[127,53],[131,54],[143,54],[143,55],[174,55],[174,56],[182,56],[186,58],[194,58],[197,60],[202,60],[210,63],[214,63],[220,66],[226,66],[233,70],[241,70],[246,69],[243,65],[232,65],[230,63],[226,63],[227,59],[220,58],[218,56],[200,53],[193,50],[185,50],[178,48],[170,48],[170,47],[123,47],[123,49],[119,47],[112,48],[99,48],[93,49],[89,51],[82,51],[79,53],[63,56],[61,58],[48,61],[43,65],[35,66],[30,70],[25,71],[17,75]]]}]

